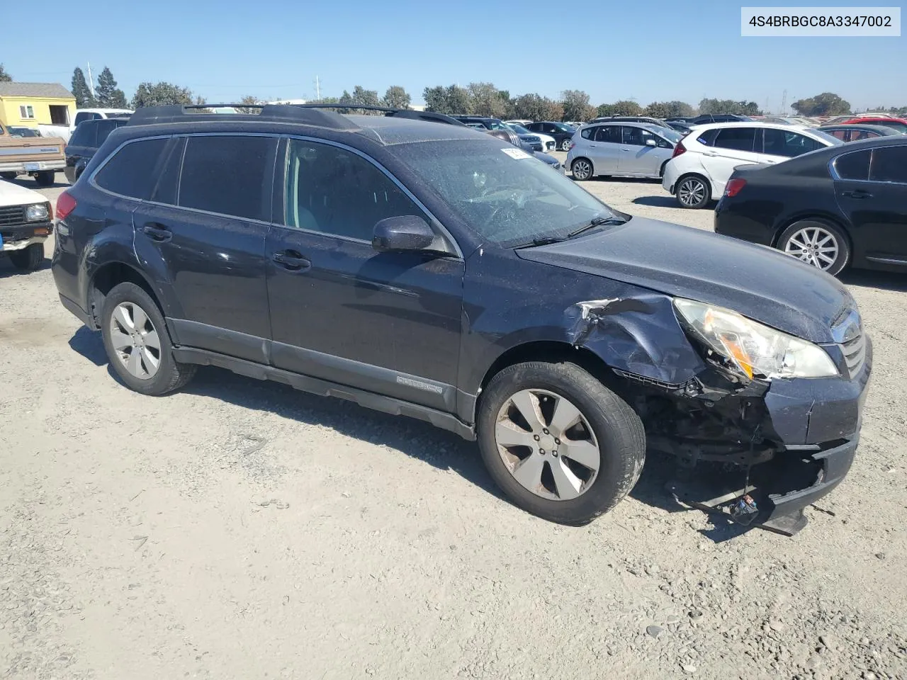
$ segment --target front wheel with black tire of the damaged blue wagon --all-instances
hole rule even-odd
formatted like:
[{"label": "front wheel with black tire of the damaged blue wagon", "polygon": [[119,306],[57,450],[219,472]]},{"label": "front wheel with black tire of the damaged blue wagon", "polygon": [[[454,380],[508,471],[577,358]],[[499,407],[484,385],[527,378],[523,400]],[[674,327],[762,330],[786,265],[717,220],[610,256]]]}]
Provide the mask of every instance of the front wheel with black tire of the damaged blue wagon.
[{"label": "front wheel with black tire of the damaged blue wagon", "polygon": [[495,375],[479,404],[485,467],[512,502],[545,520],[584,524],[639,479],[639,416],[580,366],[527,362]]}]

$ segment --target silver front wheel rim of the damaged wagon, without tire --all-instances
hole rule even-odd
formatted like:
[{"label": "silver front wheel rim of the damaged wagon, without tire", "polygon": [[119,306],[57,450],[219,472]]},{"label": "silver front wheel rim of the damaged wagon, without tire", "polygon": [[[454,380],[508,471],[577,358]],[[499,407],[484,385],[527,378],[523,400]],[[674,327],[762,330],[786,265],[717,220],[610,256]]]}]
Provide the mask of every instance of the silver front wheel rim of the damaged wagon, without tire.
[{"label": "silver front wheel rim of the damaged wagon, without tire", "polygon": [[494,442],[515,481],[548,500],[589,491],[601,466],[599,444],[586,416],[548,390],[520,390],[503,403]]}]

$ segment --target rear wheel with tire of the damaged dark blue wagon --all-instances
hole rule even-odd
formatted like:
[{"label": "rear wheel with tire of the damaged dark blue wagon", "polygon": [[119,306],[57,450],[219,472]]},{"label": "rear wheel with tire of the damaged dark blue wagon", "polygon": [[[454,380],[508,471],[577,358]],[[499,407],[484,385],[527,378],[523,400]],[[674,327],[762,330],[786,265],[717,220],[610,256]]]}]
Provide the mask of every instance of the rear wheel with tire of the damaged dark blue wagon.
[{"label": "rear wheel with tire of the damaged dark blue wagon", "polygon": [[173,358],[161,310],[133,283],[114,286],[107,294],[101,333],[113,370],[135,392],[161,396],[180,389],[195,374],[195,365]]}]

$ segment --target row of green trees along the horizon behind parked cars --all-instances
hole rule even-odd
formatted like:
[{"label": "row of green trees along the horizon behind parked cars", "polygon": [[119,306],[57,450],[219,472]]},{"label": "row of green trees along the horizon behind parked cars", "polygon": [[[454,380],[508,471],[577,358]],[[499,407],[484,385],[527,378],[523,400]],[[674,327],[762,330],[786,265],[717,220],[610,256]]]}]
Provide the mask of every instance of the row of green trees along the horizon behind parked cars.
[{"label": "row of green trees along the horizon behind parked cars", "polygon": [[[13,78],[0,63],[0,83],[10,82]],[[120,109],[132,106],[159,106],[164,104],[205,104],[204,97],[196,95],[187,87],[172,83],[139,83],[132,100],[127,101],[122,90],[117,88],[111,70],[104,66],[98,75],[97,86],[92,95],[91,88],[85,80],[81,68],[73,70],[72,92],[78,108],[102,107]],[[731,99],[702,99],[697,106],[688,102],[651,102],[642,106],[632,100],[619,100],[613,103],[593,105],[590,96],[582,90],[564,90],[558,99],[542,96],[532,92],[512,96],[507,90],[498,89],[493,83],[469,83],[460,85],[436,85],[426,87],[422,92],[427,111],[439,113],[465,113],[490,116],[503,119],[530,119],[532,121],[589,121],[596,116],[639,116],[653,118],[687,117],[697,113],[736,113],[743,115],[761,115],[756,102],[736,101]],[[245,106],[237,107],[246,112],[248,107],[258,103],[253,95],[246,95],[239,102]],[[344,90],[339,97],[325,97],[312,103],[344,104],[346,106],[385,106],[394,109],[408,109],[412,97],[400,85],[387,88],[384,96],[376,90],[366,90],[356,85],[352,92]],[[791,109],[802,116],[834,116],[851,113],[850,102],[834,92],[822,92],[812,97],[805,97],[791,104]],[[339,111],[339,109],[338,109]],[[346,109],[347,112],[367,110]],[[876,112],[888,112],[895,115],[907,115],[907,106],[884,107],[873,109]]]}]

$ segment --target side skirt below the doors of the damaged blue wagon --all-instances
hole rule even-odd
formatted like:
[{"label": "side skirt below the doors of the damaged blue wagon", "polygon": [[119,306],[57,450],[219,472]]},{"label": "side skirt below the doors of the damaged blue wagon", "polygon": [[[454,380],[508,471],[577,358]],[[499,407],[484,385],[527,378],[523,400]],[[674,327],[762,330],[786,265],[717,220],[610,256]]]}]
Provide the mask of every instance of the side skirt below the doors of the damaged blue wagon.
[{"label": "side skirt below the doors of the damaged blue wagon", "polygon": [[473,426],[463,423],[453,414],[437,411],[416,403],[405,402],[402,399],[395,399],[381,394],[366,392],[365,390],[359,390],[355,387],[331,383],[327,380],[321,380],[320,378],[295,374],[279,368],[274,368],[273,366],[256,364],[255,362],[246,361],[245,359],[219,355],[216,352],[208,352],[203,349],[174,347],[173,357],[182,364],[218,366],[219,368],[226,368],[235,374],[246,375],[249,378],[256,378],[257,380],[273,380],[276,383],[288,384],[290,387],[302,390],[303,392],[346,399],[350,402],[356,402],[360,406],[375,411],[381,411],[383,413],[405,415],[420,421],[432,423],[435,427],[439,427],[442,430],[459,434],[465,440],[473,441],[475,439],[475,429]]}]

